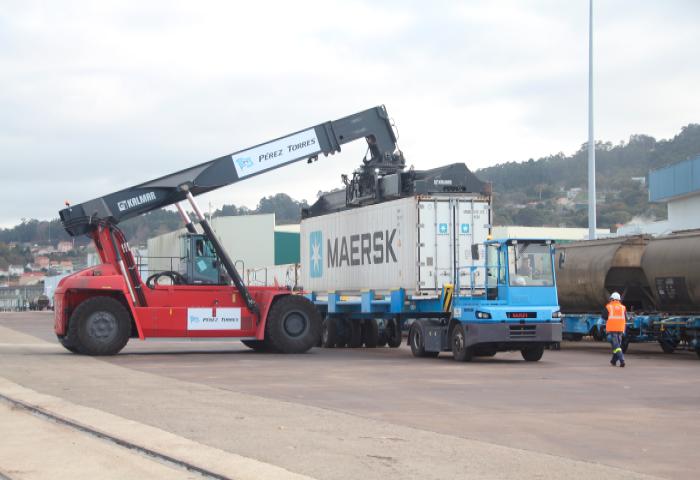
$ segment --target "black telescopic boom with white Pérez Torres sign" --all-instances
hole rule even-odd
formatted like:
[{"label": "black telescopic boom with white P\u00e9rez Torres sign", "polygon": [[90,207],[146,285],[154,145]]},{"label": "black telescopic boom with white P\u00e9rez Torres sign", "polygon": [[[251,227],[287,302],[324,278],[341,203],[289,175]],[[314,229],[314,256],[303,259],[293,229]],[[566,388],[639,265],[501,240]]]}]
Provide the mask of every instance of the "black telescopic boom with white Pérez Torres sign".
[{"label": "black telescopic boom with white P\u00e9rez Torres sign", "polygon": [[116,225],[129,218],[167,207],[192,195],[215,190],[303,159],[315,160],[340,152],[340,146],[365,138],[370,158],[362,168],[368,175],[395,173],[404,168],[396,136],[384,106],[321,123],[254,147],[240,150],[59,212],[66,231],[89,234],[98,225]]}]

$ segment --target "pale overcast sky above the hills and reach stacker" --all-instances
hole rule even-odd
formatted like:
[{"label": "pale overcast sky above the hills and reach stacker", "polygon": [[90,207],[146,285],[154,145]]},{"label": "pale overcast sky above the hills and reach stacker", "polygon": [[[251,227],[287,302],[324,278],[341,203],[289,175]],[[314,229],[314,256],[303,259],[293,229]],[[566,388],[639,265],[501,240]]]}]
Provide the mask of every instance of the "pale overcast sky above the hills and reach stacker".
[{"label": "pale overcast sky above the hills and reach stacker", "polygon": [[[700,122],[700,2],[595,6],[596,138]],[[0,226],[377,104],[419,169],[572,153],[587,29],[587,0],[0,0]],[[313,202],[363,143],[201,204]]]}]

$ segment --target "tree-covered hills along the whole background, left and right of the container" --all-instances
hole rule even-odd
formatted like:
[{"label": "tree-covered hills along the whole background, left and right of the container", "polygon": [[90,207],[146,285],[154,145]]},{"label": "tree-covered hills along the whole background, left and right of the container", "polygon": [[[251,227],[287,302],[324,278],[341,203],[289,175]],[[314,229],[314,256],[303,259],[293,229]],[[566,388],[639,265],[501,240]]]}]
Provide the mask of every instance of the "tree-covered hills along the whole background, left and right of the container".
[{"label": "tree-covered hills along the whole background, left and right of the container", "polygon": [[[508,162],[478,170],[476,174],[493,183],[494,223],[496,225],[587,226],[586,145],[571,156],[563,153],[538,160]],[[700,155],[700,125],[691,124],[669,140],[647,135],[632,135],[629,142],[596,145],[598,226],[614,227],[633,217],[665,218],[664,205],[648,202],[647,187],[642,184],[650,169]],[[640,181],[641,180],[641,181]],[[297,201],[284,193],[264,197],[255,209],[224,205],[213,212],[219,215],[275,213],[277,223],[298,223],[306,201]],[[143,244],[149,236],[180,228],[177,213],[157,210],[133,218],[120,226],[133,245]],[[19,242],[55,244],[68,236],[58,219],[24,219],[12,228],[0,229],[0,243]],[[76,239],[87,243],[87,237]]]}]

